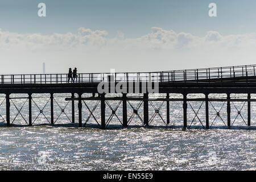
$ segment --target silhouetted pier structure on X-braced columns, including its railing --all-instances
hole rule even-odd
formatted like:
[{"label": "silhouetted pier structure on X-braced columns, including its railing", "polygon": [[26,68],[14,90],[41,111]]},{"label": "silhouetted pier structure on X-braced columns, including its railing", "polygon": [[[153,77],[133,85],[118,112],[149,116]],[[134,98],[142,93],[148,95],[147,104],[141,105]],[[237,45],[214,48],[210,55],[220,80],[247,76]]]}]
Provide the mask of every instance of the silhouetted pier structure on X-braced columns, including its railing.
[{"label": "silhouetted pier structure on X-braced columns, including its railing", "polygon": [[[195,122],[209,129],[217,120],[225,126],[232,126],[238,118],[242,120],[243,125],[251,126],[251,102],[256,101],[251,98],[252,94],[256,94],[255,67],[256,65],[245,65],[150,73],[84,73],[79,74],[77,82],[69,82],[67,74],[2,75],[0,76],[0,93],[4,96],[0,107],[5,105],[5,113],[0,113],[0,119],[6,122],[7,126],[11,126],[19,117],[26,125],[32,126],[36,124],[40,116],[43,116],[50,125],[55,125],[59,118],[64,117],[71,123],[77,120],[79,127],[86,126],[89,121],[93,121],[105,129],[113,119],[127,127],[136,117],[142,125],[150,126],[158,117],[160,122],[170,125],[170,116],[173,114],[170,113],[172,109],[170,103],[175,102],[175,105],[182,105],[183,123],[182,121],[181,123],[184,129],[190,128]],[[136,96],[130,93],[134,91],[135,86],[133,90],[129,90],[128,86],[125,93],[112,93],[111,96],[98,93],[97,86],[100,82],[108,82],[109,85],[114,83],[116,86],[121,81],[133,85],[138,83],[140,91],[144,89],[145,83],[148,85],[150,82],[151,84],[157,82],[159,93],[151,94],[146,89],[146,92]],[[33,94],[42,93],[48,94],[43,100],[38,97],[38,101],[37,97],[33,96]],[[60,93],[70,94],[65,97],[64,105],[60,104],[57,96],[54,96]],[[12,94],[27,95],[12,97]],[[88,97],[84,94],[92,95]],[[162,95],[157,97],[159,94]],[[172,98],[170,97],[172,94],[180,94],[181,97]],[[191,98],[189,94],[203,94],[203,97]],[[225,94],[225,97],[213,98],[210,97],[211,94]],[[246,97],[233,97],[233,94],[246,94]],[[22,105],[17,105],[16,100],[23,101]],[[115,105],[110,102],[114,102]],[[197,102],[196,106],[193,104],[195,102]],[[217,108],[214,105],[216,102],[220,103],[221,107]],[[238,107],[237,102],[242,103],[241,107]],[[44,104],[41,105],[42,103]],[[71,110],[68,109],[68,105],[71,105]],[[75,117],[76,105],[77,119]],[[27,114],[22,112],[24,107],[27,107]],[[236,112],[234,119],[231,117],[231,107],[234,107]],[[120,111],[121,108],[122,115],[119,115],[118,110]],[[209,113],[209,108],[213,109],[213,118],[209,118],[209,115],[212,115]],[[38,110],[38,113],[33,113],[33,109]],[[188,109],[191,110],[189,116]],[[201,114],[203,109],[204,117]],[[110,112],[106,113],[106,110]],[[14,111],[15,117],[10,118],[10,112]],[[96,113],[97,111],[100,113]],[[87,114],[86,117],[83,117],[83,113]]]}]

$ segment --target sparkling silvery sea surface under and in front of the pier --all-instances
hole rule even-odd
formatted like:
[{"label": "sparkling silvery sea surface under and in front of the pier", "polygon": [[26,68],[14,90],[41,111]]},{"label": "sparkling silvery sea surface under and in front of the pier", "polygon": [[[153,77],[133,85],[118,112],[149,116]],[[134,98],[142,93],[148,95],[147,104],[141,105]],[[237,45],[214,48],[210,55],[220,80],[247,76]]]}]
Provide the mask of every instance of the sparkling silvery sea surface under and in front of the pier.
[{"label": "sparkling silvery sea surface under and in front of the pier", "polygon": [[[24,96],[24,95],[23,95]],[[20,97],[16,94],[13,97]],[[210,108],[210,130],[205,130],[204,104],[201,102],[190,103],[195,112],[200,108],[195,117],[195,112],[188,104],[188,126],[190,129],[182,131],[183,110],[182,102],[170,102],[170,125],[166,125],[159,115],[156,115],[150,127],[143,127],[138,117],[134,117],[129,127],[124,128],[117,117],[113,117],[106,130],[98,129],[97,122],[91,117],[86,127],[79,128],[76,123],[71,123],[71,102],[64,101],[63,95],[56,95],[54,103],[55,126],[48,125],[50,121],[48,95],[34,95],[32,102],[33,117],[36,118],[34,126],[24,127],[28,121],[28,102],[13,99],[20,114],[11,102],[12,127],[6,127],[5,102],[0,107],[3,117],[0,123],[0,169],[1,170],[255,170],[256,156],[256,107],[251,104],[251,127],[247,127],[247,104],[243,102],[232,104],[232,123],[228,129],[226,123],[226,105],[224,102],[212,103],[216,110],[220,110],[221,118],[216,117],[216,111]],[[36,98],[43,97],[43,98]],[[69,97],[69,95],[67,95]],[[176,97],[176,96],[173,96]],[[197,97],[192,95],[191,97]],[[109,103],[114,108],[118,101]],[[0,103],[1,104],[1,103]],[[44,107],[44,105],[46,107]],[[59,104],[59,105],[58,105]],[[86,101],[92,110],[96,101]],[[139,102],[130,102],[139,105]],[[152,104],[158,108],[162,102],[154,101]],[[43,114],[38,116],[39,109]],[[67,106],[66,106],[67,105]],[[66,107],[65,107],[66,106]],[[201,107],[200,107],[201,106]],[[65,107],[65,109],[64,109]],[[128,118],[133,110],[129,104]],[[241,110],[242,117],[237,109]],[[65,113],[61,113],[64,109]],[[154,107],[149,107],[151,118],[155,113]],[[100,122],[100,105],[94,111],[95,117]],[[106,119],[110,117],[106,105]],[[143,104],[138,112],[143,119]],[[166,104],[160,109],[160,114],[166,121]],[[89,115],[83,105],[83,123]],[[122,105],[117,109],[118,118],[122,121]],[[235,118],[237,119],[235,120]],[[245,119],[245,122],[243,119]],[[192,124],[191,124],[191,121]],[[21,126],[23,125],[23,126]]]}]

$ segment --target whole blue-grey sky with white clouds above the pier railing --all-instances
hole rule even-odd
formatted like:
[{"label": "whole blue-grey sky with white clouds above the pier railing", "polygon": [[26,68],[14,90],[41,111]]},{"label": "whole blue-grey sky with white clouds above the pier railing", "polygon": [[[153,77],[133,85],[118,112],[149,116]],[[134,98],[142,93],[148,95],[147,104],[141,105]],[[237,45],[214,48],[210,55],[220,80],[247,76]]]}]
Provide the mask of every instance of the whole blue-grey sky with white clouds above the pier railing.
[{"label": "whole blue-grey sky with white clouds above the pier railing", "polygon": [[255,7],[255,0],[1,0],[0,71],[42,73],[43,63],[47,73],[254,64]]}]

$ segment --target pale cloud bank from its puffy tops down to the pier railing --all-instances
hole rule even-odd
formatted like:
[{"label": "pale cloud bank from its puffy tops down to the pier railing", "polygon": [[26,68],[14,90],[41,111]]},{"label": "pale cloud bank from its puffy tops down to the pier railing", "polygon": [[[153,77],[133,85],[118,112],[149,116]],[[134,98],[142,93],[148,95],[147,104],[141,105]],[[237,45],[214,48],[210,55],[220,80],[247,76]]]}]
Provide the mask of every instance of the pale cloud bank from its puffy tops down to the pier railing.
[{"label": "pale cloud bank from its puffy tops down to the pier railing", "polygon": [[[63,72],[73,64],[84,72],[156,71],[201,68],[224,65],[253,64],[256,33],[221,35],[208,31],[205,36],[152,27],[139,38],[125,38],[122,32],[114,38],[104,30],[79,28],[66,34],[18,34],[0,29],[0,59],[7,60],[13,72],[40,72],[46,62],[49,72]],[[62,66],[62,67],[61,67]],[[9,68],[0,68],[6,72]]]}]

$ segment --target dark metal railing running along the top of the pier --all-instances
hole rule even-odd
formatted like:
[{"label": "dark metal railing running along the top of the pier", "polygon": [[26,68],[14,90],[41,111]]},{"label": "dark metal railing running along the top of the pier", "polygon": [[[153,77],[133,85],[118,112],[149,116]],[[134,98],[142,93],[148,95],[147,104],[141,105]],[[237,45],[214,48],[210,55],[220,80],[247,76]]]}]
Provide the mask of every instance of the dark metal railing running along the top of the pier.
[{"label": "dark metal railing running along the top of the pier", "polygon": [[[127,73],[78,73],[78,83],[101,81],[152,81],[152,82],[176,82],[176,81],[223,81],[227,78],[235,80],[255,76],[256,65],[241,65],[234,67],[216,67],[201,69],[185,69],[162,72],[127,72]],[[250,80],[251,81],[251,80]],[[65,84],[72,83],[68,74],[30,74],[30,75],[0,75],[0,84]]]}]

